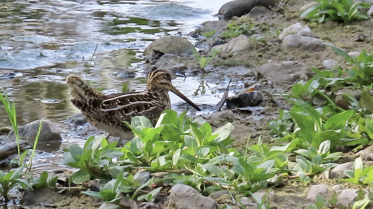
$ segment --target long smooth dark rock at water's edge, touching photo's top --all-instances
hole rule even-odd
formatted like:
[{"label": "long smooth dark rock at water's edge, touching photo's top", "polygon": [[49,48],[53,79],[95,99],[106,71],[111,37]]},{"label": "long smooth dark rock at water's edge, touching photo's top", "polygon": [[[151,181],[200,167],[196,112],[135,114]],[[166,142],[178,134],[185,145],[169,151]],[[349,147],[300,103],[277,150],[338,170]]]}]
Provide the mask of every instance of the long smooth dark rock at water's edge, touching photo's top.
[{"label": "long smooth dark rock at water's edge, touching photo's top", "polygon": [[223,15],[224,20],[230,20],[233,16],[241,17],[246,15],[256,6],[270,9],[275,4],[276,0],[233,0],[223,4],[217,14]]}]

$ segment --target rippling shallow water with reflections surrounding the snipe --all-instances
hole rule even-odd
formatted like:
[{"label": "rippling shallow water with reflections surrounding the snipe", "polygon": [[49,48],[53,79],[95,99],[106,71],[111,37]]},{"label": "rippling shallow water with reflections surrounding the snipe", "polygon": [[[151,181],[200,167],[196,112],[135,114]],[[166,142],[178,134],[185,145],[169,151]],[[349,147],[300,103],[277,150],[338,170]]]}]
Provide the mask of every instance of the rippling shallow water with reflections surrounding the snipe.
[{"label": "rippling shallow water with reflections surrounding the snipe", "polygon": [[[213,15],[228,1],[0,0],[0,87],[15,101],[19,125],[44,118],[63,126],[79,112],[70,102],[67,75],[83,77],[104,93],[120,92],[123,82],[143,90],[144,49],[178,31],[188,37],[200,23],[217,20]],[[123,69],[135,77],[117,76]],[[218,85],[200,77],[178,77],[173,84],[197,105],[214,106],[228,81]],[[174,109],[183,102],[175,94],[170,97]],[[0,127],[4,125],[10,123],[0,108]],[[62,147],[84,144],[66,129],[62,136]],[[34,165],[41,170],[57,165],[61,155],[61,150],[38,152]]]}]

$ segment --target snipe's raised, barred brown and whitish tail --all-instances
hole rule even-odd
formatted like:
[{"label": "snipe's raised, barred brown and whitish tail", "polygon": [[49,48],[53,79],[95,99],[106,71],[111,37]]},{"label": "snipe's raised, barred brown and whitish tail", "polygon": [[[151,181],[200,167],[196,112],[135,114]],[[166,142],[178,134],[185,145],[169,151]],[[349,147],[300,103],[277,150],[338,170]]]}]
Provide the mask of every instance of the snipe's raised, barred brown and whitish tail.
[{"label": "snipe's raised, barred brown and whitish tail", "polygon": [[66,82],[69,85],[71,96],[79,102],[87,101],[88,99],[92,98],[100,98],[104,96],[103,93],[92,89],[78,77],[69,75],[66,78]]}]

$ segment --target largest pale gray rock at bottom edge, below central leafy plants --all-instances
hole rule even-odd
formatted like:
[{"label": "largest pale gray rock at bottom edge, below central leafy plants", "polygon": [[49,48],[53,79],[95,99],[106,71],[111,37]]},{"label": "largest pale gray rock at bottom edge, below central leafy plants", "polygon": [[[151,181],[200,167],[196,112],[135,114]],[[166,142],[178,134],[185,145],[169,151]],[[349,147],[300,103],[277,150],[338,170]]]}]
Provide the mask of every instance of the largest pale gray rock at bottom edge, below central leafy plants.
[{"label": "largest pale gray rock at bottom edge, below central leafy plants", "polygon": [[167,198],[167,207],[175,209],[218,209],[219,205],[213,199],[198,193],[193,187],[176,184],[171,188]]}]

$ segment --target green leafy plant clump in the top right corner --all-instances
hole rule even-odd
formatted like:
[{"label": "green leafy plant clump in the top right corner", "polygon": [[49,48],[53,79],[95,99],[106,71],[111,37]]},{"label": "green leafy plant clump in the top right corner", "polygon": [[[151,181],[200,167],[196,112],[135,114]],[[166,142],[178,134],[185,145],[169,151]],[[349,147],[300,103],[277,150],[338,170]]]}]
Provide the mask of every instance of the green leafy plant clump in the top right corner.
[{"label": "green leafy plant clump in the top right corner", "polygon": [[301,18],[316,20],[319,23],[339,21],[348,25],[352,20],[366,20],[369,15],[363,9],[370,4],[354,0],[315,0],[317,4],[305,10]]}]

